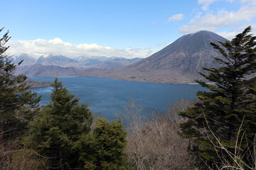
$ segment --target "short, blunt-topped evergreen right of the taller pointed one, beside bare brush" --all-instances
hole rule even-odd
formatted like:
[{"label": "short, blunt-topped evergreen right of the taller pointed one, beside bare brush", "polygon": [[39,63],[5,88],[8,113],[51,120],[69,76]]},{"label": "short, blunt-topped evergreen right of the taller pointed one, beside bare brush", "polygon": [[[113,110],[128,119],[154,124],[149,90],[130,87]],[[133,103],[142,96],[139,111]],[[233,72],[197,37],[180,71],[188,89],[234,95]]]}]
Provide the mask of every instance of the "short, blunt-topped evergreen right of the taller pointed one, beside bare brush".
[{"label": "short, blunt-topped evergreen right of the taller pointed one, beside bare brush", "polygon": [[99,118],[92,135],[85,140],[88,147],[81,155],[85,162],[84,168],[127,169],[127,157],[124,154],[127,144],[125,137],[127,132],[124,131],[121,120],[110,123]]}]

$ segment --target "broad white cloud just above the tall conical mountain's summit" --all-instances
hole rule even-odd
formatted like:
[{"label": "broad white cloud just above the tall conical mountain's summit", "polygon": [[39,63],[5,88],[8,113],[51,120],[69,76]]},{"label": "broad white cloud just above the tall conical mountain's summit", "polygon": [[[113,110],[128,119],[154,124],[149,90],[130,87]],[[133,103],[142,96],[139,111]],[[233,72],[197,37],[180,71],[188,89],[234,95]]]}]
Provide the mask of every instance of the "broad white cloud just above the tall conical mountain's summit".
[{"label": "broad white cloud just above the tall conical mountain's summit", "polygon": [[[207,4],[213,2],[215,0],[198,0],[201,3],[205,2]],[[216,14],[213,13],[206,13],[204,16],[197,15],[191,19],[191,21],[187,24],[179,28],[180,33],[194,33],[198,30],[210,30],[214,32],[218,32],[220,28],[225,27],[240,27],[244,26],[243,28],[252,25],[255,23],[253,21],[256,18],[256,1],[243,1],[243,5],[240,7],[238,11],[225,11],[219,10]],[[241,1],[241,2],[242,2]],[[232,33],[233,32],[233,33]],[[230,38],[231,36],[235,35],[237,31],[222,32],[225,38]],[[239,32],[238,32],[239,33]]]}]

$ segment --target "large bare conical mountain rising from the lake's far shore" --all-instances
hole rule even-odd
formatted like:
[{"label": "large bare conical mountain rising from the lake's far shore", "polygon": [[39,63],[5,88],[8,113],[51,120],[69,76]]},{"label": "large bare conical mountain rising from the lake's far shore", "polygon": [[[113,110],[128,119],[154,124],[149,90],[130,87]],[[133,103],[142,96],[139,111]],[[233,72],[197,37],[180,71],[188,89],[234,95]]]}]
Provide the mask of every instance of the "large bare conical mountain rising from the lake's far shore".
[{"label": "large bare conical mountain rising from the lake's far shore", "polygon": [[[218,43],[218,41],[225,42],[226,39],[206,30],[183,35],[144,60],[95,76],[128,81],[193,83],[194,79],[201,79],[198,74],[203,72],[201,67],[218,66],[213,57],[220,57],[220,53],[210,45],[210,42]],[[85,73],[85,75],[88,74],[90,74],[89,71]]]}]

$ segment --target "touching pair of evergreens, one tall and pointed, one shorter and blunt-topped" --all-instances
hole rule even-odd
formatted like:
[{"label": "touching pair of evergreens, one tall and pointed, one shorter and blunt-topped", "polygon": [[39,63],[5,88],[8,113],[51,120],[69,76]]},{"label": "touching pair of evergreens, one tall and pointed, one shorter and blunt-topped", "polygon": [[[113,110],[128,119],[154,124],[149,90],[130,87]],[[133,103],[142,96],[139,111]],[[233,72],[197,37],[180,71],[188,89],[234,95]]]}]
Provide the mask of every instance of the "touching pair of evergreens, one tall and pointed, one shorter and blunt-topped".
[{"label": "touching pair of evergreens, one tall and pointed, one shorter and blunt-topped", "polygon": [[125,169],[127,132],[120,120],[98,119],[91,131],[92,113],[56,78],[51,103],[29,127],[24,144],[46,157],[48,169]]}]

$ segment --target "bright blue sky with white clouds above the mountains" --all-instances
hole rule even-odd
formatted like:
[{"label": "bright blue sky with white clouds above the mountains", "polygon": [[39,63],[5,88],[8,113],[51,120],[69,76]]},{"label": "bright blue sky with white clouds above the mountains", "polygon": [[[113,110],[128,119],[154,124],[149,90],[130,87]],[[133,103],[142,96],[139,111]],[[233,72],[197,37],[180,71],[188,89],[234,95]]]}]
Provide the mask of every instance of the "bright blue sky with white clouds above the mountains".
[{"label": "bright blue sky with white clouds above the mountains", "polygon": [[256,0],[2,0],[1,13],[9,54],[149,57],[198,30],[256,34]]}]

